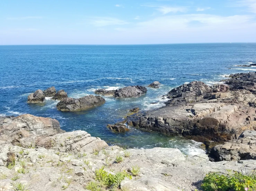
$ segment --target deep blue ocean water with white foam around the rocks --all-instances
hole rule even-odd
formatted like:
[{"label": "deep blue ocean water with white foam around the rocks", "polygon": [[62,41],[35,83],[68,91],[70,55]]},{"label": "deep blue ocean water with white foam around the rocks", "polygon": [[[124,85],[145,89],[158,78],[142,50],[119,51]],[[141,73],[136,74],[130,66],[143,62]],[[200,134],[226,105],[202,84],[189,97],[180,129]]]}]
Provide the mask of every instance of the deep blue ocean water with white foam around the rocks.
[{"label": "deep blue ocean water with white foam around the rocks", "polygon": [[[166,101],[161,96],[183,83],[200,80],[214,84],[231,73],[256,71],[256,67],[236,66],[255,62],[255,43],[0,46],[0,116],[30,113],[55,118],[66,131],[85,130],[108,144],[200,153],[200,143],[195,141],[132,127],[126,133],[113,133],[106,125],[122,120],[134,107],[161,107]],[[85,111],[58,111],[58,101],[50,98],[42,104],[27,103],[29,93],[51,86],[79,98],[98,88],[148,86],[153,81],[162,86],[148,88],[140,98],[104,97],[104,105]]]}]

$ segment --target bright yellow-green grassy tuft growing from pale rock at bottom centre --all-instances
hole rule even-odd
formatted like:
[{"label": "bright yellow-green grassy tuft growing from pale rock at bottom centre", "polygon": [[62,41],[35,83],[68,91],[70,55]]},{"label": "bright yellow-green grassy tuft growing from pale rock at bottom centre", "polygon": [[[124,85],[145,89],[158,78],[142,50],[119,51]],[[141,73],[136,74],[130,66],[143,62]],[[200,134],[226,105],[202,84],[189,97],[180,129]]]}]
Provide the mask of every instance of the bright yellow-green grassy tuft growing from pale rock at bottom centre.
[{"label": "bright yellow-green grassy tuft growing from pale rock at bottom centre", "polygon": [[131,179],[131,175],[126,172],[117,172],[115,175],[107,173],[104,170],[104,167],[95,171],[95,180],[98,180],[104,187],[109,188],[118,188],[119,184],[121,183],[124,178],[127,177]]}]

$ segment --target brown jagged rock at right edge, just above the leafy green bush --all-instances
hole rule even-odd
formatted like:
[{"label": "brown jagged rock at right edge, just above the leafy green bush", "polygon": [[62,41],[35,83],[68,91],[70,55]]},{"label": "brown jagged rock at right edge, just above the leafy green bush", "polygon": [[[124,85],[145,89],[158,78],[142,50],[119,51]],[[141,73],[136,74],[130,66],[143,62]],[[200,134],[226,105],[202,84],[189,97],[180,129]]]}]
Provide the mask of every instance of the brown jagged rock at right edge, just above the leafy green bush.
[{"label": "brown jagged rock at right edge, just above the leafy green bush", "polygon": [[216,145],[210,157],[214,161],[256,160],[256,131],[246,130],[238,139]]}]

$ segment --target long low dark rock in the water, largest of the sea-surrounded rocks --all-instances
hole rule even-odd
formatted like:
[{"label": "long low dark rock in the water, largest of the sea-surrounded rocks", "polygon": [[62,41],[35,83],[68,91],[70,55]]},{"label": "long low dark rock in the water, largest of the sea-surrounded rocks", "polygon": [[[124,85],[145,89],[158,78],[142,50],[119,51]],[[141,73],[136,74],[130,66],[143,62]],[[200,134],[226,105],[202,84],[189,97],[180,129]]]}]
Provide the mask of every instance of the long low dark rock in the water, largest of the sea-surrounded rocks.
[{"label": "long low dark rock in the water, largest of the sea-surrounded rocks", "polygon": [[82,98],[64,98],[57,104],[57,109],[61,111],[76,111],[95,107],[105,103],[105,99],[100,96],[84,96]]}]

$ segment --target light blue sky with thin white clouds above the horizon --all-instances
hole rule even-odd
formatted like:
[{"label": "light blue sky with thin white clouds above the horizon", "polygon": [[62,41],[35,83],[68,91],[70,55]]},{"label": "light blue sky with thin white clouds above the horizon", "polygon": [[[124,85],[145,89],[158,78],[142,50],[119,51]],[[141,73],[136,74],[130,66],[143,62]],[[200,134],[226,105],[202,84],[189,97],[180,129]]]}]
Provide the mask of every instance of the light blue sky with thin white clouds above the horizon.
[{"label": "light blue sky with thin white clouds above the horizon", "polygon": [[6,0],[0,10],[0,45],[256,42],[256,0]]}]

